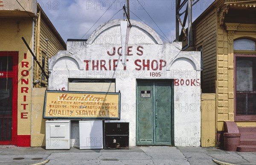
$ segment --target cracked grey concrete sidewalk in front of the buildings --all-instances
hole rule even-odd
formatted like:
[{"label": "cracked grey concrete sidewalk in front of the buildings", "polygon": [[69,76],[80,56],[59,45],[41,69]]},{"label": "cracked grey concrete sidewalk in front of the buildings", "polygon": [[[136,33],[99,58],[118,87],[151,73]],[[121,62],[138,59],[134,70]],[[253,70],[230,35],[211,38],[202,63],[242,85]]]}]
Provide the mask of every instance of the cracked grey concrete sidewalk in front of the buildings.
[{"label": "cracked grey concrete sidewalk in front of the buildings", "polygon": [[45,150],[0,146],[0,165],[255,165],[256,152],[217,148],[145,146],[129,150]]}]

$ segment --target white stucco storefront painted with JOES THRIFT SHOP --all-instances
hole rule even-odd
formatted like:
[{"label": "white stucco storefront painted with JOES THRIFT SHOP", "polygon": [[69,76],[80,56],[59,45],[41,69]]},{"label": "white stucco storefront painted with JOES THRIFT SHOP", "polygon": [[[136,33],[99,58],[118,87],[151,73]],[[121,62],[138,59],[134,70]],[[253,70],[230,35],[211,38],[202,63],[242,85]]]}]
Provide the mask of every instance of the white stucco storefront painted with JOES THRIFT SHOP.
[{"label": "white stucco storefront painted with JOES THRIFT SHOP", "polygon": [[[164,132],[165,128],[157,129],[165,127],[163,123],[166,122],[170,124],[170,128],[166,128],[170,129],[167,130],[170,133],[164,136],[170,136],[169,145],[200,146],[200,52],[182,52],[181,43],[165,43],[149,26],[135,20],[131,20],[131,24],[132,27],[127,33],[126,67],[121,62],[120,20],[112,20],[99,26],[88,41],[69,41],[67,51],[59,51],[49,59],[51,74],[48,90],[70,90],[70,83],[81,81],[93,83],[90,87],[94,88],[94,91],[98,89],[101,92],[102,86],[98,87],[97,81],[111,80],[114,87],[109,87],[108,90],[121,93],[120,120],[129,122],[129,145],[134,146],[141,144],[138,136],[145,133],[141,130],[143,126],[138,125],[144,120],[138,114],[145,116],[145,113],[140,112],[141,105],[138,103],[143,100],[140,96],[142,93],[140,87],[143,89],[145,84],[141,82],[146,81],[148,87],[152,87],[149,88],[152,89],[153,98],[154,91],[157,91],[158,87],[165,86],[161,85],[161,82],[168,81],[170,87],[164,88],[162,92],[159,89],[159,93],[162,94],[161,97],[169,98],[167,101],[170,110],[167,113],[170,114],[167,116],[170,117],[166,121],[160,121],[161,126],[156,128],[159,123],[157,115],[161,114],[156,109],[157,107],[160,107],[160,110],[165,109],[166,103],[153,104],[154,113],[148,116],[149,120],[153,118],[150,124],[152,128],[149,128],[154,134],[152,135],[154,142],[151,143],[160,144],[157,143],[157,138],[161,138],[159,132]],[[122,40],[125,41],[125,36],[122,36]],[[83,89],[77,84],[75,86],[77,89]],[[154,97],[158,97],[157,94],[154,94]],[[145,102],[147,111],[146,104],[148,102]],[[72,129],[76,130],[76,127],[74,123]],[[77,133],[77,131],[72,132]],[[158,135],[155,135],[157,133]],[[79,135],[72,137],[76,140]],[[79,144],[73,143],[73,145]]]}]

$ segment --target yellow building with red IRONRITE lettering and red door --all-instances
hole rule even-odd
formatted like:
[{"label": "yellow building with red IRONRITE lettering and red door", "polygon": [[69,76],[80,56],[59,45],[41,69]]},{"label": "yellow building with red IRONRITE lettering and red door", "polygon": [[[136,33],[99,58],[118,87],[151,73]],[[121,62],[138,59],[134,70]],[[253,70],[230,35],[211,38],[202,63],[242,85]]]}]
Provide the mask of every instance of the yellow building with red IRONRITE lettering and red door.
[{"label": "yellow building with red IRONRITE lettering and red door", "polygon": [[0,145],[32,146],[32,113],[42,109],[32,103],[33,90],[47,87],[47,78],[22,37],[46,73],[47,58],[66,43],[36,0],[0,1],[0,36]]}]

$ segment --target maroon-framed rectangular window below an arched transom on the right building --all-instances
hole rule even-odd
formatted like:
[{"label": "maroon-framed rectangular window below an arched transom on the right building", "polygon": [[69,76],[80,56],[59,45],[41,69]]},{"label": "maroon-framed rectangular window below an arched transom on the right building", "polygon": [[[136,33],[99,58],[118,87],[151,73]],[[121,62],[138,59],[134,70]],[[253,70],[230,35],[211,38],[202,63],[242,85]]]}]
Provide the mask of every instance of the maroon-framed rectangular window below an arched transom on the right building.
[{"label": "maroon-framed rectangular window below an arched transom on the right building", "polygon": [[236,115],[256,115],[255,57],[236,57]]}]

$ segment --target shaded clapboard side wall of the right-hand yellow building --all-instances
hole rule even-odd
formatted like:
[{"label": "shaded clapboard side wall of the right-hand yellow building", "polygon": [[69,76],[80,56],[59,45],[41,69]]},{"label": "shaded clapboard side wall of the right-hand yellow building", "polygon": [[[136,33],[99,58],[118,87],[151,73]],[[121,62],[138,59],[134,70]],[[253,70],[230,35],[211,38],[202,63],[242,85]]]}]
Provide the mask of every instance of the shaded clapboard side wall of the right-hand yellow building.
[{"label": "shaded clapboard side wall of the right-hand yellow building", "polygon": [[193,24],[195,48],[202,48],[203,53],[203,84],[202,93],[215,93],[216,82],[216,12],[212,10],[204,19]]}]

